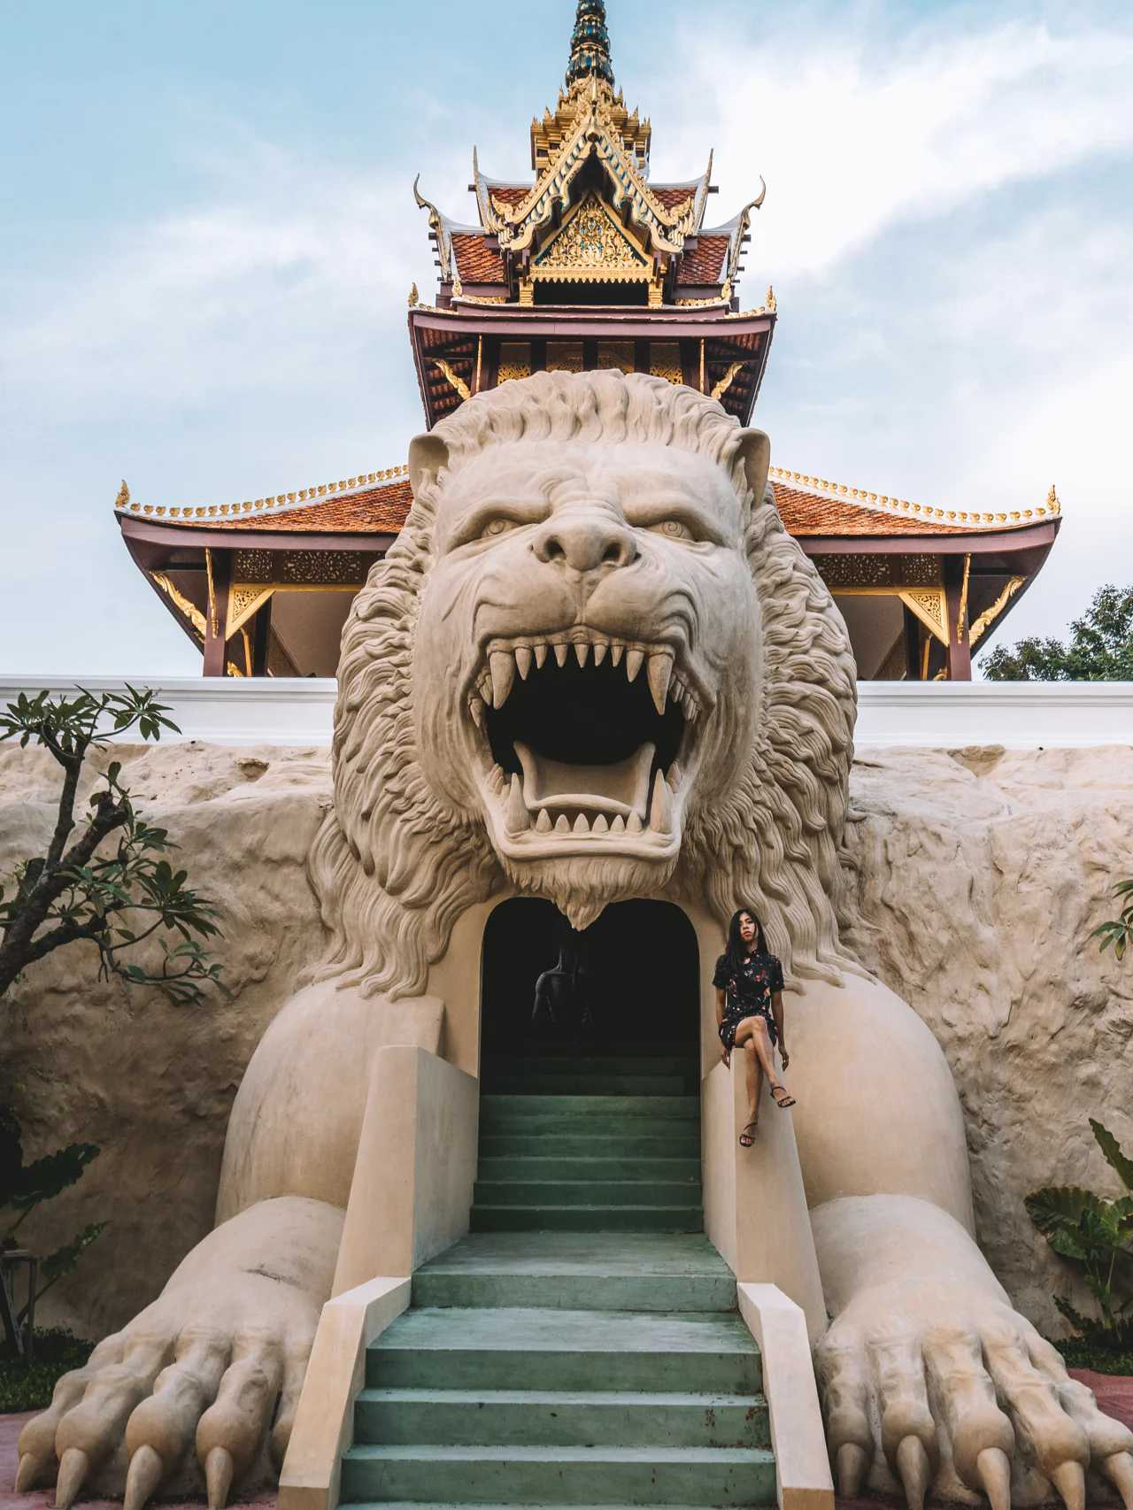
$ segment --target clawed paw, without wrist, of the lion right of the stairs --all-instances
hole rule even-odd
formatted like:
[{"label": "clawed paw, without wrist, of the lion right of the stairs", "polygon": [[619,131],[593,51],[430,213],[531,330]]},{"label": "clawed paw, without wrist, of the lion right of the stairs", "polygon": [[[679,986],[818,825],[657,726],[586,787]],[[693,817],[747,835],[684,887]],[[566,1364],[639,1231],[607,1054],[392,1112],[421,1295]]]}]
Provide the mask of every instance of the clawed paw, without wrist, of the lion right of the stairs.
[{"label": "clawed paw, without wrist, of the lion right of the stairs", "polygon": [[819,1344],[817,1371],[846,1498],[869,1483],[903,1489],[909,1510],[931,1493],[1009,1510],[1050,1501],[1053,1486],[1067,1510],[1083,1510],[1094,1472],[1133,1510],[1133,1433],[993,1297],[908,1284],[863,1291]]}]

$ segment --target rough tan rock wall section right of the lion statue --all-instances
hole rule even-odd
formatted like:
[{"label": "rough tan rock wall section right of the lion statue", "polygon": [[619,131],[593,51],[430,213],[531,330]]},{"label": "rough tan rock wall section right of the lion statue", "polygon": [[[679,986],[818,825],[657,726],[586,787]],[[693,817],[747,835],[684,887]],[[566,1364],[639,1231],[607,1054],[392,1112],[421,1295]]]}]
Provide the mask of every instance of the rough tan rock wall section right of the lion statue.
[{"label": "rough tan rock wall section right of the lion statue", "polygon": [[849,941],[943,1045],[980,1244],[1017,1306],[1060,1335],[1051,1293],[1094,1306],[1023,1196],[1118,1193],[1091,1116],[1133,1151],[1133,960],[1089,939],[1133,874],[1133,749],[870,750],[852,799]]}]

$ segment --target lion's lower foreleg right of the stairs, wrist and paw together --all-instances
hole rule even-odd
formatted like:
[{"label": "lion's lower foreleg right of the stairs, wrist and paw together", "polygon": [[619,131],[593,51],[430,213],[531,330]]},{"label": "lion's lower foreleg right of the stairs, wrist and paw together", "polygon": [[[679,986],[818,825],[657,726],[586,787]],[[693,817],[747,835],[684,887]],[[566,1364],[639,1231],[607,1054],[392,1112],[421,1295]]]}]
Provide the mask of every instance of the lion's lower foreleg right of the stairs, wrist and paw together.
[{"label": "lion's lower foreleg right of the stairs, wrist and paw together", "polygon": [[1015,1312],[947,1213],[851,1196],[811,1213],[826,1305],[817,1351],[838,1492],[894,1489],[912,1510],[986,1495],[1082,1510],[1094,1469],[1133,1505],[1133,1433],[1104,1416]]}]

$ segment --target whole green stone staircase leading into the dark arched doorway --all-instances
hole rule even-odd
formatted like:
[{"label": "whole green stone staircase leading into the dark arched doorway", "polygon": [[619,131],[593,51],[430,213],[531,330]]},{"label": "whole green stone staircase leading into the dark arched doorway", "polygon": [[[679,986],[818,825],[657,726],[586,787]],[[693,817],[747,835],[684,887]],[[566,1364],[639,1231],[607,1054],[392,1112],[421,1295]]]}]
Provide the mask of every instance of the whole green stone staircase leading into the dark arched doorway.
[{"label": "whole green stone staircase leading into the dark arched doorway", "polygon": [[343,1504],[773,1504],[695,1090],[678,1059],[486,1069],[471,1232],[367,1353]]}]

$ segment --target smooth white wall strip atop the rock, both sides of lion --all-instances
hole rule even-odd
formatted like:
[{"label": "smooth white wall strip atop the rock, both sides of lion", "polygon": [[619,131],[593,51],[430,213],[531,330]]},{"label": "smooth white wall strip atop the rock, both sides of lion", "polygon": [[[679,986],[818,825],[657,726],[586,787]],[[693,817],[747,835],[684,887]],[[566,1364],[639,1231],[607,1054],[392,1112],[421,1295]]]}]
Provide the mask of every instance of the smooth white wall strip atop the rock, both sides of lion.
[{"label": "smooth white wall strip atop the rock, both sides of lion", "polygon": [[[171,705],[181,738],[213,744],[329,744],[335,683],[314,678],[130,678],[154,687]],[[122,681],[88,676],[89,692]],[[0,678],[0,705],[21,692],[73,690],[76,681],[48,676]],[[172,735],[169,735],[172,737]],[[1039,746],[1133,744],[1133,683],[915,683],[858,684],[858,749],[964,744]]]}]

